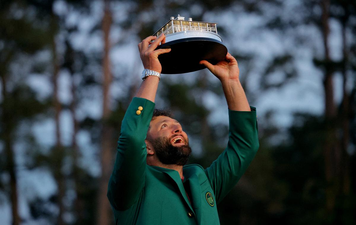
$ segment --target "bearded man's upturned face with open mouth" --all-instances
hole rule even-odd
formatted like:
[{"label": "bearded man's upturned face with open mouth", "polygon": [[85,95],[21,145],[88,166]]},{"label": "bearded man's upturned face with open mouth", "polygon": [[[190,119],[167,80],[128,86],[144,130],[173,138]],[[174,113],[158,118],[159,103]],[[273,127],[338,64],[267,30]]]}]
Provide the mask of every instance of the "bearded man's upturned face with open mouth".
[{"label": "bearded man's upturned face with open mouth", "polygon": [[157,116],[150,122],[147,140],[163,164],[183,166],[192,153],[187,134],[182,131],[177,120],[167,116]]}]

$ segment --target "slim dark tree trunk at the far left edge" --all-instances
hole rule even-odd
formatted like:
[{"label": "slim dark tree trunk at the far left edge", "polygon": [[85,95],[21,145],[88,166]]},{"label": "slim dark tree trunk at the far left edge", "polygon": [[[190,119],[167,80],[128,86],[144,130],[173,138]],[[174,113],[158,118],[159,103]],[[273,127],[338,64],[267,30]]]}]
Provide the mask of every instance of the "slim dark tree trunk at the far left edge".
[{"label": "slim dark tree trunk at the far left edge", "polygon": [[4,124],[4,144],[5,144],[5,154],[6,154],[6,170],[9,171],[10,174],[10,200],[11,200],[11,212],[12,212],[12,224],[19,225],[20,224],[20,216],[19,216],[19,200],[18,200],[18,192],[17,192],[17,180],[16,180],[16,165],[14,158],[14,149],[12,147],[12,119],[11,119],[11,106],[7,97],[6,92],[6,78],[5,74],[1,76],[2,81],[2,96],[4,101],[4,109],[3,109],[3,117],[2,124]]}]

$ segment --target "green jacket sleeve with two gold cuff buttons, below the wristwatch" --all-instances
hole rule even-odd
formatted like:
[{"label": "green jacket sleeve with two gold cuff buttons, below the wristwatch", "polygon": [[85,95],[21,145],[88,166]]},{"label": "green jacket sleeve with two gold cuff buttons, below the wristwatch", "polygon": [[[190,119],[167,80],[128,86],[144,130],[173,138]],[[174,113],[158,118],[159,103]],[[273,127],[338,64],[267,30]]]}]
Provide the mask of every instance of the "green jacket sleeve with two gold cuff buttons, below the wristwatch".
[{"label": "green jacket sleeve with two gold cuff buttons, below the wristwatch", "polygon": [[[142,110],[137,115],[139,106]],[[145,184],[145,139],[154,108],[152,101],[133,98],[122,120],[116,161],[108,185],[108,198],[116,210],[130,208]]]}]

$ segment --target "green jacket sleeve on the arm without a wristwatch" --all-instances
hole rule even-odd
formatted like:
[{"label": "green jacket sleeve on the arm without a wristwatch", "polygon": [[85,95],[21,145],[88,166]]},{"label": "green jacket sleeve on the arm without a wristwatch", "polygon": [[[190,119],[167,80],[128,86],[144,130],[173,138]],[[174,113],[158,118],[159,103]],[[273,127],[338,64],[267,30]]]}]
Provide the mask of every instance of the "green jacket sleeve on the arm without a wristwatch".
[{"label": "green jacket sleeve on the arm without a wristwatch", "polygon": [[256,108],[229,110],[229,142],[210,167],[205,169],[219,203],[236,185],[258,150]]}]

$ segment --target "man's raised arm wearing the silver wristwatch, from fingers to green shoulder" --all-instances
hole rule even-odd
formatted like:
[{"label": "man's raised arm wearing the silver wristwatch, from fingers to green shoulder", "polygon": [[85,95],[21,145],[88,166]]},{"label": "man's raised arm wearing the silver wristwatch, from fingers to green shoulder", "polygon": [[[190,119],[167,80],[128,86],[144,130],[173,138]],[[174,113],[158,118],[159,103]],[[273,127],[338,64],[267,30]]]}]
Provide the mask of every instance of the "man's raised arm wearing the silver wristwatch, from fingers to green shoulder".
[{"label": "man's raised arm wearing the silver wristwatch, from fingers to green shoulder", "polygon": [[[164,36],[147,37],[138,44],[143,67],[161,73],[158,55],[170,49],[155,50]],[[156,40],[152,43],[153,40]],[[151,46],[149,46],[151,44]],[[155,108],[158,77],[143,80],[121,124],[117,156],[109,185],[108,198],[116,210],[126,210],[138,199],[145,184],[146,134]]]}]

